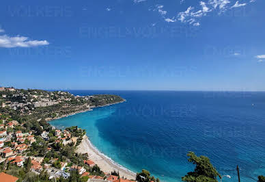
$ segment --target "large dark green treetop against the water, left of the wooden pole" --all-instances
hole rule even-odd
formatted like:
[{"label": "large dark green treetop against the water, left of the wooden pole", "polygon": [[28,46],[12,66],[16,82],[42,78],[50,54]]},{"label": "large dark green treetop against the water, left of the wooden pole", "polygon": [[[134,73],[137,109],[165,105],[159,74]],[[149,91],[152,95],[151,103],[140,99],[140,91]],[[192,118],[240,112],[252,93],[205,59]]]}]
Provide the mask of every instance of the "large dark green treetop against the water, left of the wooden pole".
[{"label": "large dark green treetop against the water, left of the wooden pole", "polygon": [[195,170],[188,172],[185,177],[182,177],[182,181],[217,181],[217,177],[221,178],[221,175],[210,163],[210,159],[206,156],[197,157],[195,153],[189,152],[188,161],[195,164]]}]

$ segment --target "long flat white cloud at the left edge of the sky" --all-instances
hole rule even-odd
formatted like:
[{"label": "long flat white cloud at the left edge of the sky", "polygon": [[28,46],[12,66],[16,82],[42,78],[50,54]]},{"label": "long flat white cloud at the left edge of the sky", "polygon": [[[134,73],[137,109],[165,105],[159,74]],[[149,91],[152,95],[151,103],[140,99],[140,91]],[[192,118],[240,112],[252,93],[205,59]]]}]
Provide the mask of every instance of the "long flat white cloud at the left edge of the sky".
[{"label": "long flat white cloud at the left edge of the sky", "polygon": [[0,47],[13,48],[13,47],[37,47],[42,45],[48,45],[46,40],[29,40],[27,37],[7,35],[0,36]]}]

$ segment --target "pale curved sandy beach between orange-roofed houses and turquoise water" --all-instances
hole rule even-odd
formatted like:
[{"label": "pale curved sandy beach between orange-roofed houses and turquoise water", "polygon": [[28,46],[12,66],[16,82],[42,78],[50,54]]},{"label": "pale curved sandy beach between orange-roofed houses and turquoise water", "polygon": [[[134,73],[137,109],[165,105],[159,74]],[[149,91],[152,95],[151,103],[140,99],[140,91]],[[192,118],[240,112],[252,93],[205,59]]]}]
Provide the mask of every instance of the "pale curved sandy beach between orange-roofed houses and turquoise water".
[{"label": "pale curved sandy beach between orange-roofed houses and turquoise water", "polygon": [[135,179],[136,177],[134,172],[126,170],[126,168],[113,163],[111,159],[108,159],[102,153],[98,152],[94,146],[92,146],[86,135],[84,136],[81,144],[77,147],[76,153],[87,153],[89,159],[94,161],[94,163],[97,164],[103,172],[111,173],[115,170],[120,172],[120,177],[124,177],[126,179]]}]

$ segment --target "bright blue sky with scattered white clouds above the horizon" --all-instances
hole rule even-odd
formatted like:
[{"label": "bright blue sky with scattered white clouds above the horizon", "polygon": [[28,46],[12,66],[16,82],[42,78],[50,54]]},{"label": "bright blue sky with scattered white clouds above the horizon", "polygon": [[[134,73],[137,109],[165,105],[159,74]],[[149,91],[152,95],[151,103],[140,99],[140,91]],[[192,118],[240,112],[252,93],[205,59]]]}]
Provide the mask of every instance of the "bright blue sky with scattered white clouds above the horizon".
[{"label": "bright blue sky with scattered white clouds above the horizon", "polygon": [[3,1],[0,86],[265,90],[265,1]]}]

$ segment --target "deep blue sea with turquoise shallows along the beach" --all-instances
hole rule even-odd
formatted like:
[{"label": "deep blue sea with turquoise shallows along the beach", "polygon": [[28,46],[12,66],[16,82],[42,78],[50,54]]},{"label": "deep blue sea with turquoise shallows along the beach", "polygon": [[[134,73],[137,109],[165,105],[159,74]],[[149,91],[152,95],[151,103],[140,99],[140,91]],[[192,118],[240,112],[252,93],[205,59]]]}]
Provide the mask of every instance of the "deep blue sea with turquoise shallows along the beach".
[{"label": "deep blue sea with turquoise shallows along the beach", "polygon": [[118,164],[181,181],[195,168],[186,153],[206,155],[221,175],[254,181],[265,175],[265,92],[68,90],[75,95],[118,94],[126,102],[51,122],[77,125]]}]

